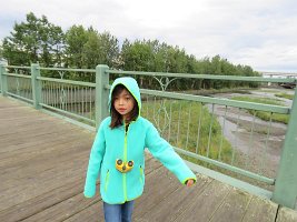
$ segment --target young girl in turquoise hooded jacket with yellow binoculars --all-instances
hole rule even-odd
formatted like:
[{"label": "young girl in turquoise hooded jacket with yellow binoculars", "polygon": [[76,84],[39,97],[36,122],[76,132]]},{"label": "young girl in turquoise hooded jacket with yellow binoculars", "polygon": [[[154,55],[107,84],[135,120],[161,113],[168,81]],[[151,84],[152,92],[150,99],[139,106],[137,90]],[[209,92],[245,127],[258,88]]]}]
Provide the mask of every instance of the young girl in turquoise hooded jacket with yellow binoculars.
[{"label": "young girl in turquoise hooded jacket with yellow binoculars", "polygon": [[116,79],[109,93],[110,117],[101,122],[96,135],[85,184],[85,196],[92,198],[100,172],[107,222],[131,221],[133,200],[142,194],[145,185],[145,148],[182,184],[190,186],[196,181],[196,175],[152,123],[140,115],[140,110],[136,80]]}]

